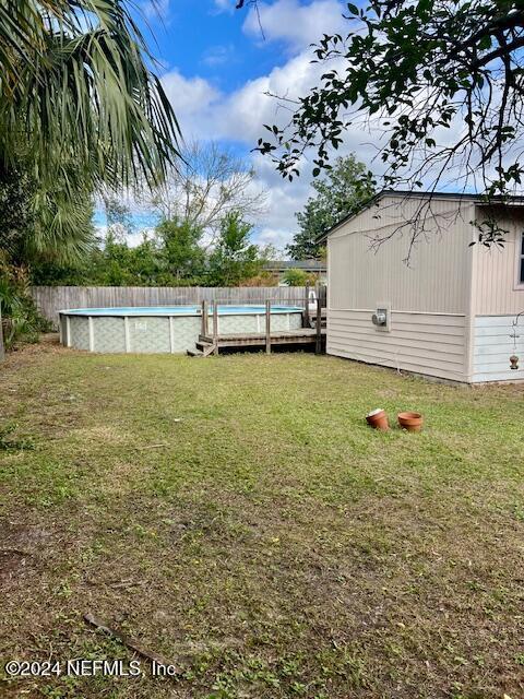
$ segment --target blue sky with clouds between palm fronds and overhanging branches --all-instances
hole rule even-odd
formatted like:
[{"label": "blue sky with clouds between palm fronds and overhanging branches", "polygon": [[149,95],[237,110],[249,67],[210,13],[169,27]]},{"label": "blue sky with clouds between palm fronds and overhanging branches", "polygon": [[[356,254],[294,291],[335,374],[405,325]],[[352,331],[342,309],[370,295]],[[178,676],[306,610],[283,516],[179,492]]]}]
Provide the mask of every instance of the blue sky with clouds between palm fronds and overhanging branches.
[{"label": "blue sky with clouds between palm fronds and overhanging branches", "polygon": [[[259,14],[249,4],[235,10],[235,0],[142,0],[141,10],[183,138],[217,141],[254,167],[267,200],[253,239],[282,250],[297,230],[295,212],[311,194],[311,178],[306,165],[298,180],[283,180],[267,156],[252,153],[264,123],[289,118],[264,93],[307,94],[324,70],[311,62],[311,43],[323,33],[344,32],[347,22],[338,0],[265,0],[258,7]],[[367,162],[366,140],[355,130],[346,134],[344,151]],[[104,227],[102,211],[95,223]],[[155,217],[136,209],[134,223],[139,232],[154,226]]]}]

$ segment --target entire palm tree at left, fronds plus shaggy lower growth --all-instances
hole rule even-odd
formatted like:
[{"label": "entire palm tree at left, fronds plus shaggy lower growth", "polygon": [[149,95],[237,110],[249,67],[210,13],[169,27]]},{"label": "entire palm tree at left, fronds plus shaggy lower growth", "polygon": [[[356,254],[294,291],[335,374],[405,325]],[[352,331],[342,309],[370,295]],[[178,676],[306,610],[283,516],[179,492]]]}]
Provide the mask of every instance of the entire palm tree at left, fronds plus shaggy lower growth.
[{"label": "entire palm tree at left, fronds plus shaggy lower growth", "polygon": [[[177,119],[128,8],[126,0],[0,0],[4,270],[35,254],[81,254],[92,242],[81,224],[96,189],[156,186],[179,157]],[[22,206],[17,229],[2,225],[13,181],[31,210]],[[0,269],[0,282],[9,279]]]}]

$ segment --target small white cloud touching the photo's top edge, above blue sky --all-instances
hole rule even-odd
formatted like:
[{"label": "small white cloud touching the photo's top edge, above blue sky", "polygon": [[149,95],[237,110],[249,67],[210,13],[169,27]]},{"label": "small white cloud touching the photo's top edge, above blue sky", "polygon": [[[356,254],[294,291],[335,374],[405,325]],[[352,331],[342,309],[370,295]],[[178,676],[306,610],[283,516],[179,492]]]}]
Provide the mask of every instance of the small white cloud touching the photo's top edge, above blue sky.
[{"label": "small white cloud touching the photo's top edge, above blue sky", "polygon": [[257,40],[284,42],[291,51],[300,51],[322,35],[344,29],[344,5],[337,0],[277,0],[251,8],[243,31]]}]

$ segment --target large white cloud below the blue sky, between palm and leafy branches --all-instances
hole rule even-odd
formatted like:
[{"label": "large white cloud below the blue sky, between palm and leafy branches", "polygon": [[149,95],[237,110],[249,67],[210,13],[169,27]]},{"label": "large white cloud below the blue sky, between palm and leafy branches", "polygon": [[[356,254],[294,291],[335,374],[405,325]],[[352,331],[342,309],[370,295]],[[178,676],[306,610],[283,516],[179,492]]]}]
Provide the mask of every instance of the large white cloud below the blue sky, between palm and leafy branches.
[{"label": "large white cloud below the blue sky, between palm and leafy branches", "polygon": [[[257,139],[264,135],[264,123],[283,126],[290,117],[289,106],[264,93],[296,98],[306,94],[323,71],[324,67],[311,63],[311,54],[307,50],[230,94],[219,92],[202,78],[186,79],[177,70],[166,73],[163,83],[187,141],[240,142],[249,153],[257,145]],[[369,141],[369,133],[362,132],[360,127],[349,128],[340,154],[355,151],[369,166],[374,154]],[[267,190],[267,213],[261,216],[257,239],[283,248],[297,230],[295,212],[303,208],[312,192],[310,168],[305,162],[301,176],[289,182],[276,173],[267,156],[250,153],[248,157],[260,185]]]}]

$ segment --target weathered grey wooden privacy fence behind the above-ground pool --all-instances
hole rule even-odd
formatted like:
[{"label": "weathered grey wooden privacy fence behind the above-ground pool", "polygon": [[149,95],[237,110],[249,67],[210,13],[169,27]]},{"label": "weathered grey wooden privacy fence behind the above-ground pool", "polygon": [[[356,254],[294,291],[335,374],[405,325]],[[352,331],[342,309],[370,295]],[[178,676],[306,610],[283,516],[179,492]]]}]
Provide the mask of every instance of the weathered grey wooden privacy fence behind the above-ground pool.
[{"label": "weathered grey wooden privacy fence behind the above-ground pool", "polygon": [[[303,306],[306,286],[33,286],[40,313],[55,327],[58,311],[67,308],[110,308],[119,306],[179,306],[216,299],[221,304],[273,304]],[[317,294],[325,306],[325,286]]]}]

